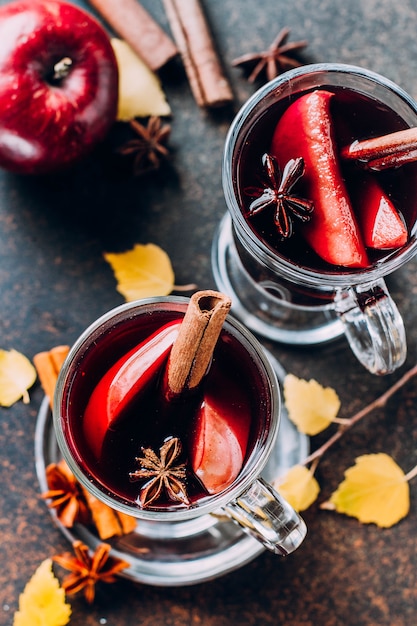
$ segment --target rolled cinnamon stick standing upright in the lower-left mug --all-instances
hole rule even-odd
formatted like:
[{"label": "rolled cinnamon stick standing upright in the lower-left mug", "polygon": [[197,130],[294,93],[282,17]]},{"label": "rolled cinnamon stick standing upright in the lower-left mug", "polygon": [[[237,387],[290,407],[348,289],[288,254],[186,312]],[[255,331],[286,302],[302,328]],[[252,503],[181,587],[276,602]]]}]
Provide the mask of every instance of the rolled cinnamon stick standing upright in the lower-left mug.
[{"label": "rolled cinnamon stick standing upright in the lower-left mug", "polygon": [[168,398],[199,385],[207,372],[231,304],[228,296],[209,289],[191,296],[168,360]]}]

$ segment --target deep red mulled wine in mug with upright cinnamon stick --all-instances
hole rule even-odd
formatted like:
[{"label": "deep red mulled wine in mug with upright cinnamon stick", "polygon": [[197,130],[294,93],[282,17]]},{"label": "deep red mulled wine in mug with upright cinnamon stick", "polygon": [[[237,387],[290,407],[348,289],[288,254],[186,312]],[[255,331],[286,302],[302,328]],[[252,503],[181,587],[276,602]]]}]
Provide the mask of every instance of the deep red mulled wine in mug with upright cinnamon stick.
[{"label": "deep red mulled wine in mug with upright cinnamon stick", "polygon": [[[174,490],[185,488],[189,508],[210,498],[212,493],[198,472],[195,473],[190,460],[201,452],[196,453],[193,446],[197,445],[196,416],[203,403],[227,415],[232,422],[235,418],[239,422],[247,417],[246,435],[239,430],[240,426],[231,425],[238,443],[245,448],[243,465],[254,450],[263,445],[270,429],[273,407],[268,374],[247,340],[229,323],[223,327],[209,371],[196,392],[173,401],[164,398],[164,372],[169,352],[164,348],[159,353],[157,365],[151,365],[154,367],[152,376],[135,394],[137,397],[120,409],[117,419],[106,422],[104,430],[99,425],[96,435],[94,430],[86,428],[86,416],[94,410],[91,402],[97,398],[100,411],[108,402],[106,398],[101,405],[101,392],[95,392],[100,390],[100,382],[108,372],[115,364],[126,360],[126,355],[132,354],[137,345],[146,346],[149,337],[156,336],[158,340],[162,336],[161,328],[167,328],[169,333],[170,325],[173,325],[175,330],[178,326],[175,320],[182,319],[184,310],[183,305],[165,305],[150,313],[116,316],[111,324],[96,331],[89,349],[67,374],[60,402],[60,421],[71,456],[88,480],[123,505],[142,506],[141,493],[155,478],[152,468],[155,469],[155,463],[164,459],[168,464],[165,458],[167,446],[171,446],[167,452],[169,456],[175,447],[172,442],[176,441],[180,442],[180,447],[176,449],[170,468],[179,469],[179,473],[172,472],[171,486]],[[162,450],[164,446],[165,451]],[[147,455],[152,457],[151,465],[145,461],[141,466],[138,459],[143,461]],[[224,458],[216,461],[220,474],[224,461]],[[150,486],[152,493],[158,489],[158,484],[154,483]],[[147,510],[184,508],[181,497],[178,500],[170,497],[170,485],[168,490],[166,484],[159,486],[162,487],[160,493],[148,503]]]}]

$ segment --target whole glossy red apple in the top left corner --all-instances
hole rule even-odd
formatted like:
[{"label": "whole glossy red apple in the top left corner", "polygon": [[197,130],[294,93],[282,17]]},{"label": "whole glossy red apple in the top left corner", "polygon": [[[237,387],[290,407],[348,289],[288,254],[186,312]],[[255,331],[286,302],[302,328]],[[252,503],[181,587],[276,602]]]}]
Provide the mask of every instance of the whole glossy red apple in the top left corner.
[{"label": "whole glossy red apple in the top left corner", "polygon": [[44,174],[80,160],[113,125],[117,100],[116,58],[95,18],[58,0],[0,7],[0,167]]}]

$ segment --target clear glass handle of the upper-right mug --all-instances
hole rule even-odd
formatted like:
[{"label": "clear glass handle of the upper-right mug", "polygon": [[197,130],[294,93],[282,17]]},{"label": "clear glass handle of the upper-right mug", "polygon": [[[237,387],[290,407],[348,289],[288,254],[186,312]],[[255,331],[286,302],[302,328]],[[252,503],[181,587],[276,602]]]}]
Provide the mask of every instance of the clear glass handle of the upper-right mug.
[{"label": "clear glass handle of the upper-right mug", "polygon": [[353,353],[372,374],[390,374],[404,363],[404,322],[383,279],[339,291],[335,311]]}]

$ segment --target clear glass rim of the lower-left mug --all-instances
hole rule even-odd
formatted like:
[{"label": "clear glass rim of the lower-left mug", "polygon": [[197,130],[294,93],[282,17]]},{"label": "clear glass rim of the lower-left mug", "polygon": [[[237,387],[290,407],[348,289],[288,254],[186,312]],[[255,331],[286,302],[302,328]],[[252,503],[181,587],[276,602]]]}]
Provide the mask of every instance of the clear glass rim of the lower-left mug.
[{"label": "clear glass rim of the lower-left mug", "polygon": [[[260,446],[254,446],[248,459],[246,460],[239,476],[235,481],[229,485],[225,490],[218,494],[209,495],[204,498],[201,504],[195,504],[187,508],[177,508],[175,510],[155,510],[155,509],[143,509],[139,506],[129,504],[122,500],[118,500],[113,497],[108,488],[104,484],[101,487],[98,485],[98,481],[94,479],[92,475],[87,474],[85,470],[80,467],[77,460],[72,454],[71,448],[68,445],[62,422],[64,417],[61,416],[61,403],[64,388],[67,382],[73,379],[75,374],[74,366],[76,367],[77,361],[85,354],[86,350],[92,343],[92,338],[97,337],[100,333],[100,329],[105,331],[106,325],[111,324],[119,320],[121,322],[123,318],[129,316],[134,311],[137,312],[138,317],[146,314],[150,311],[161,310],[161,306],[164,304],[172,305],[170,310],[176,312],[185,311],[185,305],[189,302],[189,298],[183,296],[165,296],[165,297],[151,297],[135,300],[133,302],[127,302],[121,304],[113,309],[110,309],[105,314],[97,318],[92,324],[90,324],[76,339],[68,356],[60,370],[56,392],[54,394],[53,402],[53,424],[54,430],[58,442],[58,446],[61,453],[73,472],[74,476],[79,482],[87,488],[93,495],[108,504],[114,509],[127,513],[136,517],[137,519],[147,521],[158,522],[180,522],[183,520],[189,520],[192,518],[200,517],[207,513],[213,512],[216,509],[222,508],[229,502],[236,499],[241,493],[243,493],[248,487],[259,477],[264,469],[270,452],[276,442],[278,435],[280,416],[281,416],[281,392],[278,383],[276,373],[270,363],[268,356],[256,337],[238,320],[236,320],[230,313],[228,314],[224,328],[233,334],[235,338],[244,346],[245,349],[250,347],[251,350],[257,356],[258,364],[261,364],[264,372],[262,378],[267,381],[267,392],[271,404],[271,415],[267,436],[263,442],[262,448]],[[93,339],[94,341],[94,339]],[[254,360],[252,359],[254,362]],[[74,365],[75,364],[75,365]],[[259,369],[259,365],[256,365]],[[94,479],[94,482],[93,482]]]}]

